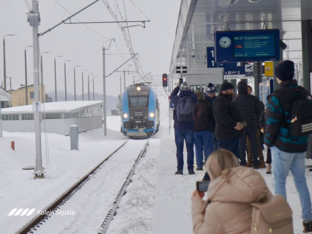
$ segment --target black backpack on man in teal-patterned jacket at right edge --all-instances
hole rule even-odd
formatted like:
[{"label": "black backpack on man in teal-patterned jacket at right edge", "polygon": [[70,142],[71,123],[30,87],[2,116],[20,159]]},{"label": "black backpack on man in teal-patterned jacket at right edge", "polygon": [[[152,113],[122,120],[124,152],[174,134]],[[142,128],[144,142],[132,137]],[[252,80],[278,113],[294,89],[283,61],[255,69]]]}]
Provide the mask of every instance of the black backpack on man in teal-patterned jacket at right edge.
[{"label": "black backpack on man in teal-patterned jacket at right edge", "polygon": [[291,105],[291,121],[288,123],[289,134],[294,137],[312,133],[312,98],[311,95],[302,94],[299,87],[295,90]]}]

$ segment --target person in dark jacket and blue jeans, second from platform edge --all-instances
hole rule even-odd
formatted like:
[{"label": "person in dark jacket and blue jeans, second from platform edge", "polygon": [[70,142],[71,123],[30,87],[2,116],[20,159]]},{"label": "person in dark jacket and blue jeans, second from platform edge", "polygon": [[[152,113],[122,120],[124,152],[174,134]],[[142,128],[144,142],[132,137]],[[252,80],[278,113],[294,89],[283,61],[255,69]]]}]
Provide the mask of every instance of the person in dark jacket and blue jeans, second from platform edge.
[{"label": "person in dark jacket and blue jeans, second from platform edge", "polygon": [[[194,116],[194,143],[197,171],[202,171],[203,159],[206,162],[207,157],[213,152],[212,131],[214,130],[214,118],[212,104],[204,99],[202,91],[195,92],[197,102],[195,104]],[[205,158],[203,157],[203,151]]]}]

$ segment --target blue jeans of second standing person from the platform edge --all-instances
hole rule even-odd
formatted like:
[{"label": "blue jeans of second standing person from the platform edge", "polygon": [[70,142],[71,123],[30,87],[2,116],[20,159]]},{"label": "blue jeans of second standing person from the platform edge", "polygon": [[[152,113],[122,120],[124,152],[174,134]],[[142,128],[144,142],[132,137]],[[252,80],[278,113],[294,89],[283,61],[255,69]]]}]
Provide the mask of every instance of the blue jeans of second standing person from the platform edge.
[{"label": "blue jeans of second standing person from the platform edge", "polygon": [[208,156],[213,152],[212,131],[203,130],[194,132],[194,143],[197,168],[202,168],[202,160],[204,159],[204,156],[202,154],[203,150],[205,153],[205,162]]}]

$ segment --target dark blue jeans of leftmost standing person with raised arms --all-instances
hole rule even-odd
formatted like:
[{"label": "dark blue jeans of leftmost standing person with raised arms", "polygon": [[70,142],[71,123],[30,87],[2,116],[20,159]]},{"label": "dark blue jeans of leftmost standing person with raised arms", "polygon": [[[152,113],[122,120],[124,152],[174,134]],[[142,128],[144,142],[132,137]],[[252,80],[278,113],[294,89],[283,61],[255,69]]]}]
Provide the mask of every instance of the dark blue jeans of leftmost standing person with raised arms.
[{"label": "dark blue jeans of leftmost standing person with raised arms", "polygon": [[174,138],[177,146],[178,171],[183,171],[183,147],[184,140],[186,151],[188,152],[188,170],[194,169],[194,131],[193,130],[177,130],[174,129]]}]

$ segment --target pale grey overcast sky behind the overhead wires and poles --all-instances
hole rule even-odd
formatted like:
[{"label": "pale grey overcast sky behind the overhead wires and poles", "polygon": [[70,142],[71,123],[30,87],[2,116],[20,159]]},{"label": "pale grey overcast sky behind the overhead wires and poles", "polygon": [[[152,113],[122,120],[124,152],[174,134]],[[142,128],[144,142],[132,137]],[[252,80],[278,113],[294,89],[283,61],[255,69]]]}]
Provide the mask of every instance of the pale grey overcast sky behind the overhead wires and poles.
[{"label": "pale grey overcast sky behind the overhead wires and poles", "polygon": [[[26,1],[26,0],[25,0]],[[120,12],[124,16],[123,0],[106,0],[115,11],[115,2],[118,3]],[[32,0],[28,0],[32,5]],[[93,0],[57,0],[67,11],[72,14],[87,6]],[[57,23],[66,19],[69,15],[56,0],[39,1],[41,25],[39,33],[45,32]],[[143,27],[130,27],[129,32],[134,52],[139,53],[142,68],[145,73],[161,75],[169,72],[170,59],[172,55],[173,41],[178,21],[180,0],[132,0],[132,2],[144,13],[142,14],[130,0],[124,1],[127,20],[147,20],[144,14],[151,20]],[[12,88],[25,84],[25,46],[32,45],[32,27],[27,22],[27,5],[23,0],[3,0],[0,7],[0,35],[17,34],[17,36],[5,37],[6,48],[6,73],[12,77]],[[118,12],[118,11],[117,11]],[[76,16],[81,22],[114,21],[103,1],[99,1]],[[77,22],[75,19],[72,22]],[[138,23],[129,23],[134,25]],[[87,75],[95,73],[95,92],[103,93],[103,62],[102,45],[108,48],[107,38],[115,38],[110,49],[106,51],[106,75],[128,60],[129,55],[126,42],[116,23],[87,24],[95,32],[81,24],[61,24],[51,32],[46,33],[39,39],[40,52],[43,56],[43,83],[46,92],[54,92],[54,57],[56,58],[57,90],[65,90],[64,84],[64,61],[66,62],[67,92],[74,93],[74,66],[76,67],[76,92],[82,93],[81,71],[84,74],[84,90],[87,91]],[[98,35],[98,34],[100,35]],[[106,37],[106,38],[104,38]],[[117,47],[118,46],[118,47]],[[119,54],[119,50],[123,55]],[[3,81],[3,48],[0,46],[0,83]],[[28,84],[33,83],[33,59],[32,48],[27,48],[27,75]],[[131,64],[132,62],[128,63]],[[119,71],[128,68],[128,64]],[[134,65],[129,71],[135,70]],[[106,78],[106,95],[117,96],[120,92],[120,75],[116,72]],[[90,75],[90,79],[93,75]],[[131,84],[133,74],[126,75],[126,85]],[[122,79],[123,80],[123,79]],[[90,82],[92,85],[92,82]],[[7,79],[7,89],[9,89]],[[92,86],[91,86],[92,87]],[[52,96],[54,99],[54,96]]]}]

